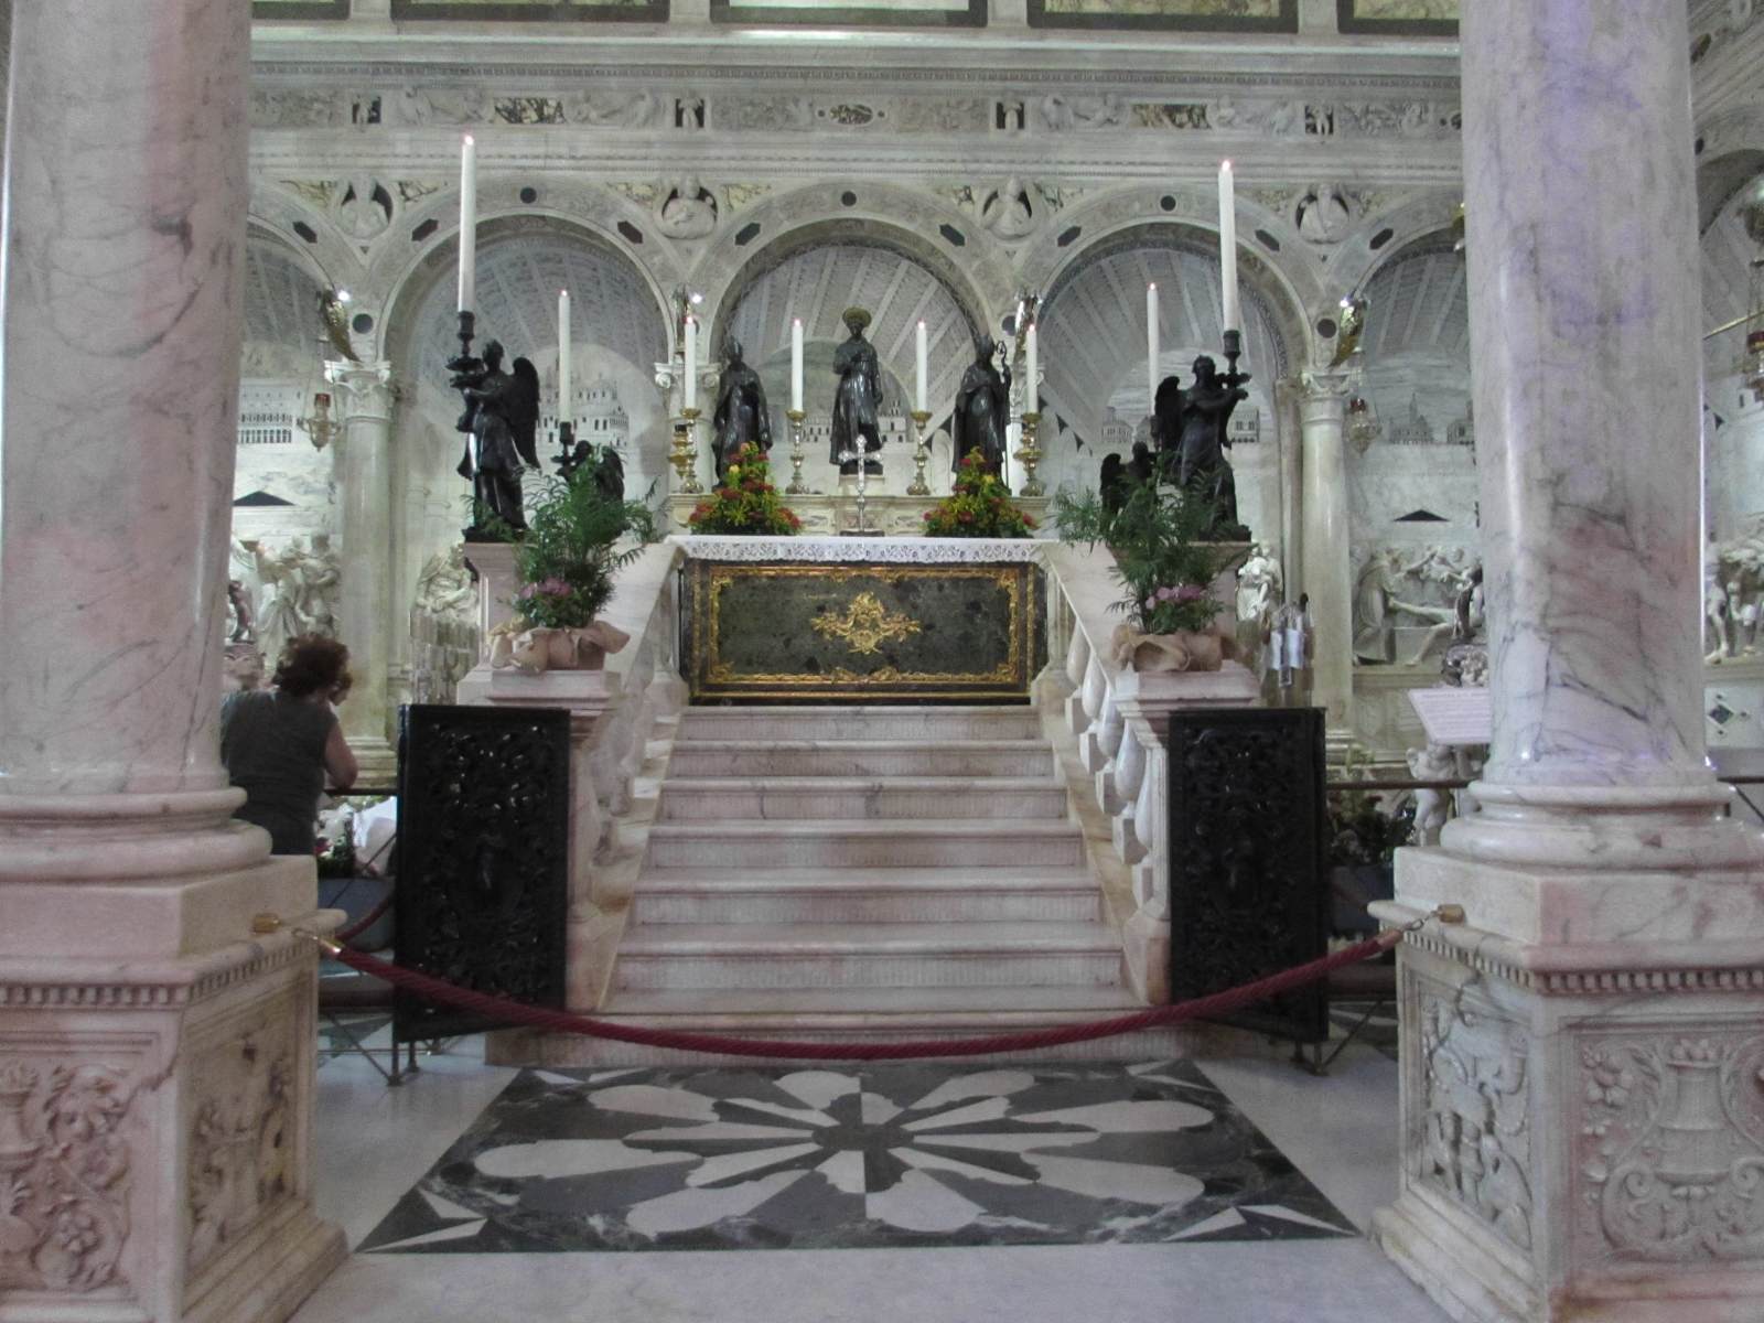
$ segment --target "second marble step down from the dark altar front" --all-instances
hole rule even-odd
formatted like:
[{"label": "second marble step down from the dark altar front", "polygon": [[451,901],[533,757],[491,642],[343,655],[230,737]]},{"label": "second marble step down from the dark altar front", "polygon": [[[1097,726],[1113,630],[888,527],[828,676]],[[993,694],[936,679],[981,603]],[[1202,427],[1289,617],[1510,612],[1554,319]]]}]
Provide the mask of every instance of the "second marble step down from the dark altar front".
[{"label": "second marble step down from the dark altar front", "polygon": [[1044,739],[693,739],[674,743],[669,781],[702,776],[1051,776]]}]

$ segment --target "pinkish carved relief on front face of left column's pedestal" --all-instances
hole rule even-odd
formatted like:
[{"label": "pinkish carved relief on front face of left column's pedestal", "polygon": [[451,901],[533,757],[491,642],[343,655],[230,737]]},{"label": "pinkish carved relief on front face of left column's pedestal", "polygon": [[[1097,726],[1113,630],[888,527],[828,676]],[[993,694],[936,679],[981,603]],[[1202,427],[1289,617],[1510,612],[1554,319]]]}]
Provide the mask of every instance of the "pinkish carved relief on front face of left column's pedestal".
[{"label": "pinkish carved relief on front face of left column's pedestal", "polygon": [[0,1065],[0,1295],[120,1279],[132,1101],[116,1065]]}]

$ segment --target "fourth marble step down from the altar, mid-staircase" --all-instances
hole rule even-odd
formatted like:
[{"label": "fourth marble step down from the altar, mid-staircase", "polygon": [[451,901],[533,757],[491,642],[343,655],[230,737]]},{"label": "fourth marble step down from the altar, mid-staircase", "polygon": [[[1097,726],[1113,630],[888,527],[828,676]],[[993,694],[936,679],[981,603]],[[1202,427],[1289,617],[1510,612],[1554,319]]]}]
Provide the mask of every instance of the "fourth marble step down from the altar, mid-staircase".
[{"label": "fourth marble step down from the altar, mid-staircase", "polygon": [[654,868],[1083,868],[1076,824],[1037,818],[658,822]]}]

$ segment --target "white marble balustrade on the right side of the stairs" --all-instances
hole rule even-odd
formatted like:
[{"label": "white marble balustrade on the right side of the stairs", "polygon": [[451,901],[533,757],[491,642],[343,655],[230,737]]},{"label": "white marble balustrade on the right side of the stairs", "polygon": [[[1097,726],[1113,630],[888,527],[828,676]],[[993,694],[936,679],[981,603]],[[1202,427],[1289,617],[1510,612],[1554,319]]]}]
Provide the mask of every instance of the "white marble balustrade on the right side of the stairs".
[{"label": "white marble balustrade on the right side of the stairs", "polygon": [[[1170,1000],[1170,760],[1164,725],[1178,707],[1249,707],[1256,677],[1221,670],[1141,676],[1110,656],[1120,614],[1115,559],[1104,549],[1046,545],[1048,656],[1064,654],[1062,714],[1090,773],[1088,794],[1110,818],[1134,912],[1122,933],[1127,974],[1147,1002]],[[1217,589],[1215,589],[1217,591]],[[1221,593],[1231,600],[1228,593]],[[1058,665],[1057,662],[1053,665]],[[1071,686],[1071,688],[1067,688]]]}]

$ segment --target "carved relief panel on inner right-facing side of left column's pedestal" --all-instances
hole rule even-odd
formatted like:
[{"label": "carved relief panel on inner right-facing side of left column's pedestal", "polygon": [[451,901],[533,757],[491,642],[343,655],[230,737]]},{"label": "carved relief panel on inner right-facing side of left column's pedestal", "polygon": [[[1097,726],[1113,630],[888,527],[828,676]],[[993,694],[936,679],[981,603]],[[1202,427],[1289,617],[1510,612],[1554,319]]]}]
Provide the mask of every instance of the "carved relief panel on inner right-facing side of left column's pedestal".
[{"label": "carved relief panel on inner right-facing side of left column's pedestal", "polygon": [[189,1136],[191,1270],[293,1194],[293,1074],[288,1025],[201,1055]]}]

